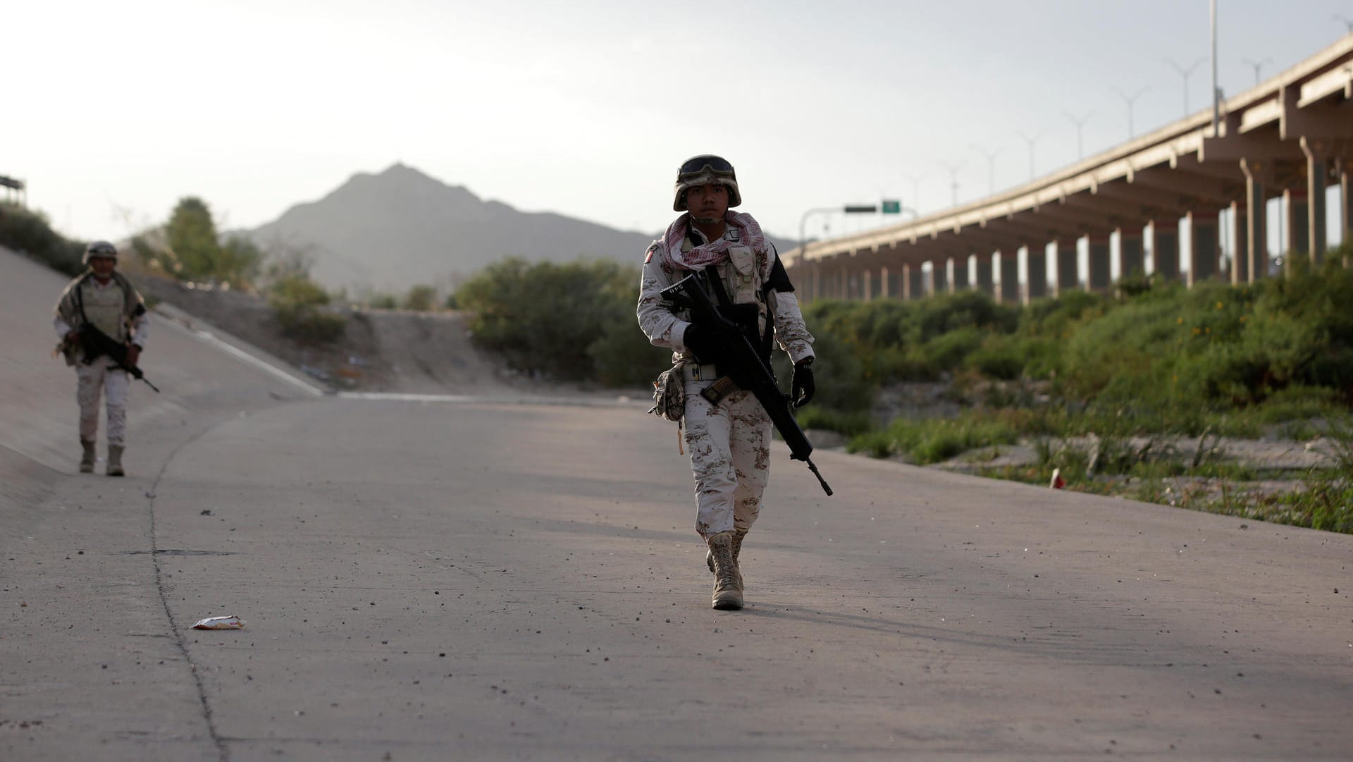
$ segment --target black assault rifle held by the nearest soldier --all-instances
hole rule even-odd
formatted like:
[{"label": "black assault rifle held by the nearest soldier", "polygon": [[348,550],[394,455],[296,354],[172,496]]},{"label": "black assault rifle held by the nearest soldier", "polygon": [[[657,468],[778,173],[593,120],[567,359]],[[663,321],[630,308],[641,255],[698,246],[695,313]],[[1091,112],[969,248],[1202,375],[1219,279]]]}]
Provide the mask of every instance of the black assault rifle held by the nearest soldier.
[{"label": "black assault rifle held by the nearest soldier", "polygon": [[762,360],[756,348],[752,346],[751,340],[743,333],[743,329],[721,315],[718,309],[714,307],[714,302],[709,298],[709,292],[713,291],[720,296],[720,302],[727,303],[728,299],[723,288],[723,282],[717,277],[712,279],[701,271],[683,277],[675,286],[670,286],[662,291],[663,300],[674,307],[689,310],[691,322],[702,329],[708,329],[717,344],[714,357],[701,359],[713,360],[724,372],[724,376],[701,393],[702,397],[717,405],[720,399],[735,388],[751,391],[756,397],[756,402],[760,402],[766,413],[770,414],[775,430],[779,432],[779,436],[785,437],[790,457],[806,463],[813,476],[817,476],[823,491],[831,495],[832,489],[827,486],[827,480],[823,479],[823,475],[817,471],[817,466],[813,466],[813,460],[809,457],[813,453],[813,444],[808,441],[804,429],[798,428],[798,421],[790,413],[789,395],[781,391],[779,384],[775,383],[775,375],[766,365],[766,361]]}]

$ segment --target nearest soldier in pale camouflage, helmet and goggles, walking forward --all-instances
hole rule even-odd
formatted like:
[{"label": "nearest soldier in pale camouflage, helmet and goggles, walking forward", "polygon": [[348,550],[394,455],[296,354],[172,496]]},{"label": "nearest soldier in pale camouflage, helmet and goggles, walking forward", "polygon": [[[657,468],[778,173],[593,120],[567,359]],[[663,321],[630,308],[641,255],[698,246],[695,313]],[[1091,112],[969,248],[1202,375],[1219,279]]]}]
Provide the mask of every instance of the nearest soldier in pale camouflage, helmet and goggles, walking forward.
[{"label": "nearest soldier in pale camouflage, helmet and goggles, walking forward", "polygon": [[[771,342],[794,361],[794,405],[813,395],[813,337],[804,325],[794,287],[750,214],[729,211],[741,203],[733,166],[718,156],[686,160],[676,172],[672,210],[683,211],[648,248],[639,292],[639,325],[656,346],[672,349],[686,391],[683,426],[695,476],[695,531],[709,547],[714,573],[713,608],[743,608],[737,566],[743,539],[760,512],[770,479],[771,421],[751,391],[736,390],[717,406],[701,391],[723,374],[709,360],[712,329],[674,311],[662,290],[691,272],[710,268],[733,305],[721,309],[747,333],[770,364]],[[704,355],[705,363],[701,363]]]}]

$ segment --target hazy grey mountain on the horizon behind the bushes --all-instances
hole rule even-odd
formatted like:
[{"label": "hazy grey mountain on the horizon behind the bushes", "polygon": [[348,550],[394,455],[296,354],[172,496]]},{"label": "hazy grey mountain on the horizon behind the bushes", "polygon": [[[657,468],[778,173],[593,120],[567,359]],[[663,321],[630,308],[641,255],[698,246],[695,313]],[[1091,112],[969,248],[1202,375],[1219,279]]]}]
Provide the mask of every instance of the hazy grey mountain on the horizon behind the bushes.
[{"label": "hazy grey mountain on the horizon behind the bushes", "polygon": [[[327,196],[296,204],[246,234],[271,250],[281,245],[311,253],[311,276],[329,288],[402,294],[421,283],[455,286],[513,256],[533,263],[589,257],[639,265],[658,231],[517,211],[394,164],[379,175],[353,175]],[[782,252],[793,246],[773,241]]]}]

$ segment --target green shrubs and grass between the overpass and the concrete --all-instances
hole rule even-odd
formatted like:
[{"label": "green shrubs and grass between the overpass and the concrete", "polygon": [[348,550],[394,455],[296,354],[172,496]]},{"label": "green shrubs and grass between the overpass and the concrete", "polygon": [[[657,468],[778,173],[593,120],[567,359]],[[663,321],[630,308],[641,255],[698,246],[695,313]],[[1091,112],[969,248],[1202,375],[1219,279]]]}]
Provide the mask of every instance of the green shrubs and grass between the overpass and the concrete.
[{"label": "green shrubs and grass between the overpass and the concrete", "polygon": [[[851,452],[919,464],[1031,443],[1036,464],[981,472],[1046,485],[1058,468],[1074,489],[1349,532],[1350,254],[1345,244],[1318,272],[1295,257],[1285,276],[1246,286],[1138,276],[1115,296],[1077,291],[1023,309],[971,292],[815,302],[805,314],[817,348],[847,355],[869,388],[823,398],[801,421],[846,433]],[[959,414],[861,426],[878,388],[931,380],[947,382]],[[1265,434],[1323,436],[1333,466],[1307,472],[1300,490],[1245,487],[1273,475],[1226,462],[1219,437]],[[1173,444],[1181,437],[1191,449]]]}]

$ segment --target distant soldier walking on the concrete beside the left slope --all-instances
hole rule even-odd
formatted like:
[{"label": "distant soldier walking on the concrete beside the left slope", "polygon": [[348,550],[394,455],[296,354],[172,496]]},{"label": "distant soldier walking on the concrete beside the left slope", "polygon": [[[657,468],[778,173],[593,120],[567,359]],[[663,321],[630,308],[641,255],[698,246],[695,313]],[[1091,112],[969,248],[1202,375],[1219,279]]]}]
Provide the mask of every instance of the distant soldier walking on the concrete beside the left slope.
[{"label": "distant soldier walking on the concrete beside the left slope", "polygon": [[[127,437],[127,387],[131,380],[122,365],[137,367],[146,345],[146,303],[118,268],[118,249],[107,241],[85,248],[84,264],[89,269],[66,284],[57,300],[53,325],[61,336],[61,351],[68,365],[74,365],[80,401],[80,471],[89,474],[95,463],[95,437],[99,433],[99,397],[108,401],[108,475],[122,476],[122,449]],[[97,342],[91,336],[100,332],[126,352],[122,363],[108,352],[91,349]],[[104,340],[106,341],[106,340]],[[106,341],[107,342],[107,341]]]}]

